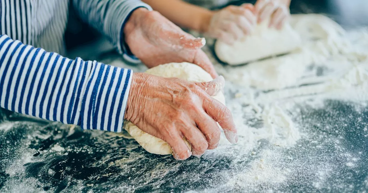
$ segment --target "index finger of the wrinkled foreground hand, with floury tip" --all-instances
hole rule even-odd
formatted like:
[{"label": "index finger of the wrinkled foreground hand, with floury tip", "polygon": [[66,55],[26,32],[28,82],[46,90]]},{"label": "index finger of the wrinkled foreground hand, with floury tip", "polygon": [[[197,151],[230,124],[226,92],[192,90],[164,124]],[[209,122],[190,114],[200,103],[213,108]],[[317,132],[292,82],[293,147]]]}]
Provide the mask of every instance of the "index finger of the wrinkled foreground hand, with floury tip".
[{"label": "index finger of the wrinkled foreground hand, with floury tip", "polygon": [[230,143],[238,142],[237,130],[230,110],[220,101],[212,97],[205,96],[203,100],[203,108],[213,120],[219,123],[224,130],[226,139]]}]

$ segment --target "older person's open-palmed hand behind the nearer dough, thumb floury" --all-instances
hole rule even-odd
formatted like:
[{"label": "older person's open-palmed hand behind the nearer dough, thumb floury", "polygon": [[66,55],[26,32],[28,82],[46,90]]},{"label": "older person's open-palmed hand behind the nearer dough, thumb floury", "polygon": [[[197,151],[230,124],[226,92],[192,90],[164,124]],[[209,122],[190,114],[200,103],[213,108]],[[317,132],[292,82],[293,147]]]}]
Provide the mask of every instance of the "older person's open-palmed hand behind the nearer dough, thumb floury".
[{"label": "older person's open-palmed hand behind the nearer dough, thumb floury", "polygon": [[218,75],[201,50],[204,38],[195,38],[157,11],[138,8],[124,27],[125,42],[148,68],[169,62],[197,64],[213,78]]}]

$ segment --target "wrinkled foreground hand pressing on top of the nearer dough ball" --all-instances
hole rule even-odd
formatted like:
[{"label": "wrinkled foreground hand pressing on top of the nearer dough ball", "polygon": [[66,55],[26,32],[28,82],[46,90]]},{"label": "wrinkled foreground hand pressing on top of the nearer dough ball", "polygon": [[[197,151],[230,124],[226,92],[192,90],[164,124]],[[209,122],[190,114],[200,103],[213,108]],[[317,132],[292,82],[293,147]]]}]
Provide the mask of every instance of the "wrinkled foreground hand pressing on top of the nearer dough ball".
[{"label": "wrinkled foreground hand pressing on top of the nearer dough ball", "polygon": [[[216,122],[231,143],[238,140],[231,112],[210,97],[223,85],[222,76],[207,83],[191,83],[134,73],[125,118],[142,131],[167,142],[175,159],[201,156],[219,143],[220,129]],[[183,137],[191,144],[192,152]]]}]

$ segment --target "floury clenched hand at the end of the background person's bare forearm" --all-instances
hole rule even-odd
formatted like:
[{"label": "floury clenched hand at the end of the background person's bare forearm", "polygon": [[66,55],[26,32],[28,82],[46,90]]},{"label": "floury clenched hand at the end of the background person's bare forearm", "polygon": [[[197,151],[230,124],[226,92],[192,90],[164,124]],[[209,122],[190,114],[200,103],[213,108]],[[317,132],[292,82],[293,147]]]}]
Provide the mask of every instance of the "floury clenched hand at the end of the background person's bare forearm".
[{"label": "floury clenched hand at the end of the background person's bare forearm", "polygon": [[244,35],[250,34],[256,24],[256,17],[250,3],[242,6],[227,6],[213,14],[206,33],[233,44]]}]

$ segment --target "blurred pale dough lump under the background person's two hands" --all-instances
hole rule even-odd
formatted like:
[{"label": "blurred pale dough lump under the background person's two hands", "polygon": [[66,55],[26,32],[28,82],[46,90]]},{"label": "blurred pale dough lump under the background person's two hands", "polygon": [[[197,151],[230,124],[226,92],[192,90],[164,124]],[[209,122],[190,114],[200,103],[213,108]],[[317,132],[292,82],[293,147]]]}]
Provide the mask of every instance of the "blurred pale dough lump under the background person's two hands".
[{"label": "blurred pale dough lump under the background person's two hands", "polygon": [[299,34],[284,24],[281,30],[268,28],[269,21],[264,21],[255,27],[249,36],[244,36],[233,45],[216,41],[216,56],[230,65],[245,64],[247,62],[289,53],[301,45]]}]

